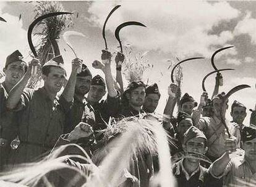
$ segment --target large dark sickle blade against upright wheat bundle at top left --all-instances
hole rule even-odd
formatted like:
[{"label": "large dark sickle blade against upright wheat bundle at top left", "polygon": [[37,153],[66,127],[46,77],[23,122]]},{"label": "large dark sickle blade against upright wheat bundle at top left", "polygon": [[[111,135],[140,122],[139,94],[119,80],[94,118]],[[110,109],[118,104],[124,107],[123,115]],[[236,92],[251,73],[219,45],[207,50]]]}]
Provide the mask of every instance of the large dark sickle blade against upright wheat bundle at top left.
[{"label": "large dark sickle blade against upright wheat bundle at top left", "polygon": [[49,14],[45,14],[45,15],[42,15],[38,18],[36,18],[31,24],[30,26],[28,27],[28,45],[30,47],[30,49],[32,50],[32,53],[35,57],[38,57],[37,53],[36,53],[36,50],[35,50],[35,47],[33,45],[33,42],[32,42],[32,31],[33,31],[33,28],[35,27],[35,25],[39,22],[41,22],[41,20],[45,19],[45,18],[48,18],[48,17],[53,17],[55,15],[63,15],[63,14],[72,14],[70,12],[53,12],[53,13],[49,13]]}]

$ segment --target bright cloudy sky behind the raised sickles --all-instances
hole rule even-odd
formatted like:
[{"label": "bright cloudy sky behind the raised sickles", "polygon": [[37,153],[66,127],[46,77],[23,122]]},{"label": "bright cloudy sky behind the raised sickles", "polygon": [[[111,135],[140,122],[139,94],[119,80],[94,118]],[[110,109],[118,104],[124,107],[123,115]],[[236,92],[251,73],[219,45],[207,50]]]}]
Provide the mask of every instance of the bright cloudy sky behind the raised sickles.
[{"label": "bright cloudy sky behind the raised sickles", "polygon": [[[254,108],[256,103],[256,1],[72,1],[61,2],[67,11],[79,12],[74,16],[74,26],[70,30],[83,33],[85,38],[71,36],[72,46],[90,67],[100,59],[105,44],[101,35],[103,23],[109,11],[120,4],[121,7],[109,18],[106,26],[106,38],[109,49],[118,50],[114,30],[122,22],[137,21],[147,28],[130,26],[121,31],[122,41],[129,42],[133,49],[141,54],[149,51],[147,58],[153,68],[144,74],[145,80],[157,82],[161,90],[161,100],[157,111],[162,113],[167,99],[167,87],[170,84],[168,66],[172,60],[177,62],[190,57],[203,56],[203,60],[186,62],[183,67],[182,95],[188,92],[197,101],[202,94],[202,79],[213,71],[210,57],[215,50],[224,46],[235,46],[216,56],[218,68],[234,68],[236,71],[223,73],[224,86],[220,91],[228,92],[239,84],[249,84],[252,88],[234,94],[234,99]],[[33,22],[35,2],[0,2],[0,16],[7,23],[0,23],[0,68],[4,67],[7,55],[19,49],[27,57],[27,29]],[[21,20],[19,15],[22,14]],[[76,14],[75,14],[76,15]],[[70,72],[70,62],[74,55],[59,39],[61,54]],[[65,48],[67,52],[63,50]],[[27,58],[29,60],[29,58]],[[163,75],[162,75],[163,74]],[[206,87],[211,94],[215,84],[215,75],[207,79]],[[229,108],[230,109],[230,108]],[[249,122],[248,111],[245,124]],[[227,114],[229,118],[229,112]]]}]

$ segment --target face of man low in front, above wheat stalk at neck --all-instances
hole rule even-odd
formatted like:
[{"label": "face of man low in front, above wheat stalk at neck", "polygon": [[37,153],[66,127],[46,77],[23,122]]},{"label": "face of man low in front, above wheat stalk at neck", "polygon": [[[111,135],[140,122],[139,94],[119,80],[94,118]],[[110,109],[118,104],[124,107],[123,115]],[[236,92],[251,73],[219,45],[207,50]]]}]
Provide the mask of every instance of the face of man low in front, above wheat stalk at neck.
[{"label": "face of man low in front, above wheat stalk at neck", "polygon": [[[207,147],[205,146],[205,139],[192,138],[187,141],[186,145],[182,145],[184,151],[205,154]],[[198,159],[189,159],[190,162],[199,162]]]}]

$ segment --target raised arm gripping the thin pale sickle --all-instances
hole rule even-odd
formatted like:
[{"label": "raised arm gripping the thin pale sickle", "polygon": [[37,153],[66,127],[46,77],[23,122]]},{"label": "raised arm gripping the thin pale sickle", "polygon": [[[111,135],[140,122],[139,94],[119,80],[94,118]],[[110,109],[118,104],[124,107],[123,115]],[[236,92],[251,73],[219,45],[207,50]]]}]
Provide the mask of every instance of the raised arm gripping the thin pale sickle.
[{"label": "raised arm gripping the thin pale sickle", "polygon": [[75,94],[75,81],[77,80],[77,70],[82,66],[83,60],[79,58],[75,58],[72,60],[72,71],[67,81],[67,85],[62,92],[62,96],[65,98],[67,102],[70,102],[74,98]]}]

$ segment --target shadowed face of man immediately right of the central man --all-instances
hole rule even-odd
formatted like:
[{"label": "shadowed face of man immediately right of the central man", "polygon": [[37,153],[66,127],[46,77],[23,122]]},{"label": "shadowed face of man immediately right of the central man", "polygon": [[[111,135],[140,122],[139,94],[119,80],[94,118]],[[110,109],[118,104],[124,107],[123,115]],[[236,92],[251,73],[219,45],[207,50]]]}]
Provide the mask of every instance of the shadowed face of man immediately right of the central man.
[{"label": "shadowed face of man immediately right of the central man", "polygon": [[158,94],[148,94],[143,103],[143,109],[147,113],[153,113],[158,105],[159,99]]}]

